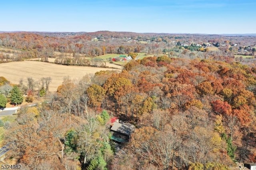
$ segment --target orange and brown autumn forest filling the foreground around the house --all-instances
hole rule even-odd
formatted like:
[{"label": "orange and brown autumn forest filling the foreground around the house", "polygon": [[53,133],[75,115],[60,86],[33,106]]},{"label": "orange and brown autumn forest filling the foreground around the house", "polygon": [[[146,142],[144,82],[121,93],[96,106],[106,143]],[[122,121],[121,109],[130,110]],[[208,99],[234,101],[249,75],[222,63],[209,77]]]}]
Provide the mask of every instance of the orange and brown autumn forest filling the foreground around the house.
[{"label": "orange and brown autumn forest filling the foreground around the house", "polygon": [[[97,79],[102,75],[103,83]],[[228,167],[235,160],[256,160],[255,68],[238,62],[145,57],[131,61],[121,73],[101,71],[90,83],[83,82],[66,77],[42,106],[20,111],[9,127],[12,137],[6,138],[16,148],[10,156],[15,154],[30,168],[76,161],[86,168],[92,166],[93,155],[103,156],[110,169]],[[107,158],[105,151],[85,152],[111,143],[101,136],[109,126],[99,114],[102,109],[136,126],[131,141]],[[83,140],[92,143],[84,145]],[[41,145],[48,146],[47,152]]]}]

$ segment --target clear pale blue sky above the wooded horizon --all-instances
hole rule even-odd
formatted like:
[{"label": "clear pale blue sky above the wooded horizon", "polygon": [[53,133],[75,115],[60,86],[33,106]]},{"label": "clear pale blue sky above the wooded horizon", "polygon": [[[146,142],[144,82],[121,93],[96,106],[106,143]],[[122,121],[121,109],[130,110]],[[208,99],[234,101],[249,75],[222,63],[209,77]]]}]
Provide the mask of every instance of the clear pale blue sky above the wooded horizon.
[{"label": "clear pale blue sky above the wooded horizon", "polygon": [[255,0],[3,0],[0,31],[256,33]]}]

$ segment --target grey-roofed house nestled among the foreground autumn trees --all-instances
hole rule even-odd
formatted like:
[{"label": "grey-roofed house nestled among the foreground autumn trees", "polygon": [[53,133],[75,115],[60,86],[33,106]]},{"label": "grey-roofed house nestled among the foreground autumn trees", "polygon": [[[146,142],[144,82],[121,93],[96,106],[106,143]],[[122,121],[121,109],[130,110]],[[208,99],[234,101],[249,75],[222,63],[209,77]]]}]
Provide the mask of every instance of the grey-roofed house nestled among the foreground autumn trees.
[{"label": "grey-roofed house nestled among the foreground autumn trees", "polygon": [[122,123],[114,122],[112,123],[111,131],[111,139],[120,142],[126,143],[129,142],[130,136],[133,131],[132,126],[124,125]]}]

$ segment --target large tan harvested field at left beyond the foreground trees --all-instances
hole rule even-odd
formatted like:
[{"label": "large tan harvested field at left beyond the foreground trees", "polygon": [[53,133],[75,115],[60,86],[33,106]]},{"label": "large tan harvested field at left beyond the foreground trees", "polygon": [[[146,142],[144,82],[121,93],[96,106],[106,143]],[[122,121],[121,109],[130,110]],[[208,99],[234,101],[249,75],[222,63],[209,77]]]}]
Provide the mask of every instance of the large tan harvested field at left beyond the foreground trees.
[{"label": "large tan harvested field at left beyond the foreground trees", "polygon": [[64,76],[70,76],[71,79],[81,79],[86,74],[94,74],[100,70],[114,69],[66,66],[40,61],[18,61],[0,64],[0,76],[8,79],[10,83],[18,84],[21,78],[26,81],[27,77],[32,77],[35,81],[42,77],[51,77],[50,91],[56,91]]}]

